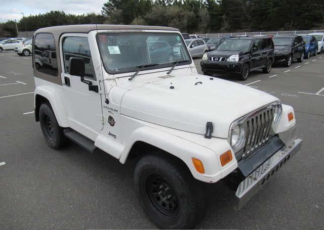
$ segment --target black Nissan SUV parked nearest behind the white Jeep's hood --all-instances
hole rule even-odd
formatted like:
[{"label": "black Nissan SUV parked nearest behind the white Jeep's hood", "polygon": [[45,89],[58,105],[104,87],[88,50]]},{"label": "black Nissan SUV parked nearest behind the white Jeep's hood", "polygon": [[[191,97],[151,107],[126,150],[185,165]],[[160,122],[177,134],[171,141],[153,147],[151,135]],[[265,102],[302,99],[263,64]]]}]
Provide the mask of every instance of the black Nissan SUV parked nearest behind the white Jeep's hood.
[{"label": "black Nissan SUV parked nearest behind the white Jeep's hood", "polygon": [[205,75],[233,72],[240,80],[246,80],[250,71],[270,72],[273,51],[270,37],[233,37],[224,40],[216,51],[204,54],[200,67]]}]

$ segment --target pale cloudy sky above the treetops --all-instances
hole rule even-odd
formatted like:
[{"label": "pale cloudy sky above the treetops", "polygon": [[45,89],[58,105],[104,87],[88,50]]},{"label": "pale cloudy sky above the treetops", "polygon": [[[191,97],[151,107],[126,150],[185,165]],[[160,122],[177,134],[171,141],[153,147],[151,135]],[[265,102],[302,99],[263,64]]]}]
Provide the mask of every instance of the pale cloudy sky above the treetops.
[{"label": "pale cloudy sky above the treetops", "polygon": [[0,0],[0,22],[19,21],[23,15],[43,14],[49,11],[64,11],[66,14],[101,13],[107,0]]}]

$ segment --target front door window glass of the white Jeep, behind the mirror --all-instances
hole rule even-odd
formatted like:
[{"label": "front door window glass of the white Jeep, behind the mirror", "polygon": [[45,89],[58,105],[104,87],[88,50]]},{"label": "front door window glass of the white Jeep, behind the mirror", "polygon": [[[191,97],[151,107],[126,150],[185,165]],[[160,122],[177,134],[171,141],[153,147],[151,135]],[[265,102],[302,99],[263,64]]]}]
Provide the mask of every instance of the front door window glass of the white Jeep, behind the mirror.
[{"label": "front door window glass of the white Jeep, behind the mirror", "polygon": [[66,37],[63,40],[65,73],[69,72],[70,58],[83,58],[86,65],[86,77],[94,78],[94,69],[87,37]]}]

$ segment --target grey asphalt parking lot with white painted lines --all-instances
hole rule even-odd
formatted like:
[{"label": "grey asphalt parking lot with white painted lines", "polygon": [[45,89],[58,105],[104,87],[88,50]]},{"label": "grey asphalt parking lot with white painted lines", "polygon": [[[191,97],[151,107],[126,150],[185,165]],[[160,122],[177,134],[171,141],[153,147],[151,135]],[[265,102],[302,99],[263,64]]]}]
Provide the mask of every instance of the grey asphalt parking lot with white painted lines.
[{"label": "grey asphalt parking lot with white painted lines", "polygon": [[[0,53],[0,162],[6,162],[0,163],[0,229],[156,228],[135,194],[134,161],[122,165],[75,144],[59,151],[46,144],[34,121],[31,62]],[[200,59],[194,62],[201,73]],[[208,212],[197,228],[323,229],[324,55],[274,66],[269,74],[256,71],[246,81],[218,77],[292,105],[304,143],[240,212],[222,182],[210,186]]]}]

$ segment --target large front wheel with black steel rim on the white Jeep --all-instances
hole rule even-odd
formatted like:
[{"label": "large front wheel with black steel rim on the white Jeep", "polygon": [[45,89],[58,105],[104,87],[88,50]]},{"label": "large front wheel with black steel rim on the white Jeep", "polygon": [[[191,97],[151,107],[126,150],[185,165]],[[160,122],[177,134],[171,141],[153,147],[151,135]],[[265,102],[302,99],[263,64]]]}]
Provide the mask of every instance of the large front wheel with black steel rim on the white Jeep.
[{"label": "large front wheel with black steel rim on the white Jeep", "polygon": [[205,188],[178,159],[153,153],[141,158],[134,173],[138,199],[162,229],[193,228],[206,212]]}]

